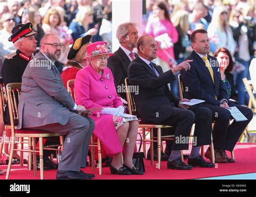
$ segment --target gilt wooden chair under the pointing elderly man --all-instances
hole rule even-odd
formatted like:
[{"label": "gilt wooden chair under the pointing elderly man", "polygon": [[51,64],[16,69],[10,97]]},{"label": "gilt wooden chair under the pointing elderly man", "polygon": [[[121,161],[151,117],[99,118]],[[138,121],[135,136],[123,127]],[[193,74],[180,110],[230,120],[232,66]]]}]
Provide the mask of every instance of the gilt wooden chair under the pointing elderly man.
[{"label": "gilt wooden chair under the pointing elderly man", "polygon": [[[128,103],[128,108],[129,108],[129,112],[132,115],[138,115],[138,111],[136,108],[136,104],[135,101],[133,99],[132,93],[130,92],[130,87],[128,85],[127,82],[127,78],[125,78],[125,90],[126,90],[126,97],[127,97],[127,103]],[[154,124],[139,124],[139,128],[142,128],[143,132],[142,132],[142,141],[143,141],[143,150],[144,150],[144,154],[145,154],[145,149],[146,149],[146,145],[145,142],[149,141],[150,142],[150,155],[151,155],[151,165],[154,164],[154,157],[153,157],[153,142],[157,142],[157,164],[158,164],[158,169],[161,168],[161,141],[162,140],[173,140],[174,139],[174,135],[165,135],[165,136],[161,136],[161,129],[162,128],[171,128],[172,126],[168,126],[168,125],[154,125]],[[150,140],[147,140],[145,138],[145,129],[148,128],[150,129]],[[157,140],[153,140],[153,128],[157,128]],[[183,158],[183,153],[182,151],[180,151],[180,157],[181,160],[184,161]]]}]

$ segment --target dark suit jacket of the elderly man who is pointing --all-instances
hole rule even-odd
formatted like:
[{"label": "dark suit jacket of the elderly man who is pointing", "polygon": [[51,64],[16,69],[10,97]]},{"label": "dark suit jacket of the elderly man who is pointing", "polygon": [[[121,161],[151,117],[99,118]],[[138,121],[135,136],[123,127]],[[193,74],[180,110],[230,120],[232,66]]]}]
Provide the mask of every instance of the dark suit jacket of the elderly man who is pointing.
[{"label": "dark suit jacket of the elderly man who is pointing", "polygon": [[160,124],[172,116],[173,107],[179,103],[179,98],[170,92],[169,84],[175,80],[172,70],[163,73],[160,66],[156,66],[160,76],[142,59],[137,57],[128,68],[129,85],[139,87],[138,94],[133,94],[140,118],[144,123]]}]

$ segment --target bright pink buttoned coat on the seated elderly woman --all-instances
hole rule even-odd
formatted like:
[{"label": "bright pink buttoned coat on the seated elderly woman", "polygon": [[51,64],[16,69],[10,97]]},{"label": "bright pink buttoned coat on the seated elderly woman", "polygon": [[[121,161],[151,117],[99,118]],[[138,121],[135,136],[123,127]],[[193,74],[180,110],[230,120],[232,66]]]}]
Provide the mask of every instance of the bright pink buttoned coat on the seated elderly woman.
[{"label": "bright pink buttoned coat on the seated elderly woman", "polygon": [[[102,77],[88,64],[77,72],[75,80],[76,103],[85,108],[118,107],[123,105],[117,96],[113,74],[108,67],[102,71]],[[95,121],[93,133],[104,144],[107,154],[122,152],[113,116],[92,112]]]}]

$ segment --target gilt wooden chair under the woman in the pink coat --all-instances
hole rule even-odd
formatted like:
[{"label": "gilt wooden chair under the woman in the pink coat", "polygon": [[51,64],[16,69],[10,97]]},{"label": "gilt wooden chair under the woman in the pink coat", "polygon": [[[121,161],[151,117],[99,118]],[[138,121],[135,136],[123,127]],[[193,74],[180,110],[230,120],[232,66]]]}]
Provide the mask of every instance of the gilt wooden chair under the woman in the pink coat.
[{"label": "gilt wooden chair under the woman in the pink coat", "polygon": [[[66,86],[68,87],[68,92],[70,93],[71,97],[74,101],[76,101],[76,92],[75,92],[75,79],[70,79],[67,81]],[[95,147],[98,147],[98,167],[99,167],[99,175],[102,175],[102,148],[101,142],[97,139],[95,142],[95,135],[92,134],[91,137],[91,158],[90,158],[90,165],[92,166],[92,171],[95,171]]]}]

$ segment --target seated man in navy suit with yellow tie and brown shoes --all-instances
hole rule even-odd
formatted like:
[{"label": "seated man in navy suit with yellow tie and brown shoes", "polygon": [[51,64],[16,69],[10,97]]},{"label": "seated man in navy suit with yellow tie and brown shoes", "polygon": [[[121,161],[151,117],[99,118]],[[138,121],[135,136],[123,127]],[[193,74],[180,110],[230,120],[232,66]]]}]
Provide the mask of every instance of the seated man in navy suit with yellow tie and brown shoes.
[{"label": "seated man in navy suit with yellow tie and brown shoes", "polygon": [[[221,40],[220,40],[221,42]],[[213,127],[213,143],[215,162],[234,162],[228,158],[226,151],[232,152],[237,140],[245,127],[250,123],[253,113],[250,108],[240,106],[233,101],[228,101],[227,92],[220,77],[218,60],[207,53],[210,52],[210,43],[207,31],[199,29],[191,35],[192,53],[186,60],[193,60],[191,69],[187,72],[181,71],[181,79],[185,87],[185,97],[188,99],[202,99],[205,103],[191,108],[207,107],[212,111],[215,120]],[[230,107],[237,107],[248,119],[246,121],[233,121],[231,125]],[[211,159],[210,148],[205,157]]]}]

